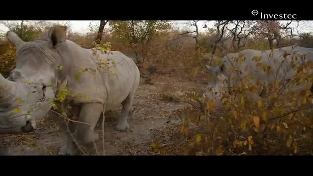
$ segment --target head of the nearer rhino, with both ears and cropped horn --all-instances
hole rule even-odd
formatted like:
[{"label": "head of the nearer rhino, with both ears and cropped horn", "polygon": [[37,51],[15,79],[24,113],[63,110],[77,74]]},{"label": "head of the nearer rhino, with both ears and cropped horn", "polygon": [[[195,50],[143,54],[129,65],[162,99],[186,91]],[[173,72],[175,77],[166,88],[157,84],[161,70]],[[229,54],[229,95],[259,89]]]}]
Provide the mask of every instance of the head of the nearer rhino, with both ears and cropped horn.
[{"label": "head of the nearer rhino, with both ears and cropped horn", "polygon": [[16,46],[16,68],[6,79],[0,74],[0,134],[31,132],[50,110],[55,90],[49,85],[57,84],[61,61],[57,47],[66,40],[65,30],[57,29],[30,42],[7,33]]}]

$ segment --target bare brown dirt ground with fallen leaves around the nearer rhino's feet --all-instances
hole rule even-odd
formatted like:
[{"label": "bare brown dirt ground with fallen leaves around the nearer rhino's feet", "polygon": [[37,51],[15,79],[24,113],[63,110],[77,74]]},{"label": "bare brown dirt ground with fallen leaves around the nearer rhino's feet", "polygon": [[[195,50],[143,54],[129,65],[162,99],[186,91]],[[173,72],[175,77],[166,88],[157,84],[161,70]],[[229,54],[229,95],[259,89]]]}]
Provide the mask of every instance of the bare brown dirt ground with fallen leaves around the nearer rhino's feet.
[{"label": "bare brown dirt ground with fallen leaves around the nearer rhino's feet", "polygon": [[[157,155],[152,147],[153,141],[160,138],[170,141],[169,133],[179,133],[179,128],[173,127],[179,127],[182,119],[175,112],[190,105],[161,100],[160,94],[174,92],[182,96],[185,91],[193,91],[195,83],[166,74],[152,75],[150,78],[152,84],[147,84],[144,77],[141,79],[134,98],[135,116],[129,119],[129,131],[115,130],[121,107],[106,116],[105,155]],[[101,122],[102,118],[96,127],[101,136],[96,145],[99,154],[103,151]],[[62,131],[46,117],[34,132],[0,136],[0,155],[56,155],[64,143]],[[97,152],[91,146],[85,153],[96,155]]]}]

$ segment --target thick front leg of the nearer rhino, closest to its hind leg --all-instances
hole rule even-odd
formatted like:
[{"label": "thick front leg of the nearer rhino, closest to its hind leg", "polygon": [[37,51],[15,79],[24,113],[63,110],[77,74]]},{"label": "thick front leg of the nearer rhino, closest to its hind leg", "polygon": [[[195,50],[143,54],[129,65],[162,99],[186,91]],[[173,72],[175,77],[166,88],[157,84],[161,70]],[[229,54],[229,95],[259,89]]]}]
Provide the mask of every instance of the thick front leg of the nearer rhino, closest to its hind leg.
[{"label": "thick front leg of the nearer rhino, closest to its hind leg", "polygon": [[100,118],[102,112],[101,103],[88,103],[83,104],[80,110],[78,121],[88,123],[75,123],[75,138],[78,139],[83,145],[89,145],[93,141],[99,139],[99,135],[94,132],[94,128]]}]

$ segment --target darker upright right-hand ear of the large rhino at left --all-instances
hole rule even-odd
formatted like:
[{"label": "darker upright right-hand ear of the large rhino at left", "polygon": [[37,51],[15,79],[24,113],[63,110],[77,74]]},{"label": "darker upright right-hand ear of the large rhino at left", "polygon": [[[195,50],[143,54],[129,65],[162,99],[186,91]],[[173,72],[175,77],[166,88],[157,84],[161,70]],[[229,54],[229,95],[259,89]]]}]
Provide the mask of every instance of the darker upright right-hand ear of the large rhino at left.
[{"label": "darker upright right-hand ear of the large rhino at left", "polygon": [[66,32],[67,32],[66,26],[55,26],[50,29],[49,38],[51,39],[54,47],[66,41],[67,39]]}]

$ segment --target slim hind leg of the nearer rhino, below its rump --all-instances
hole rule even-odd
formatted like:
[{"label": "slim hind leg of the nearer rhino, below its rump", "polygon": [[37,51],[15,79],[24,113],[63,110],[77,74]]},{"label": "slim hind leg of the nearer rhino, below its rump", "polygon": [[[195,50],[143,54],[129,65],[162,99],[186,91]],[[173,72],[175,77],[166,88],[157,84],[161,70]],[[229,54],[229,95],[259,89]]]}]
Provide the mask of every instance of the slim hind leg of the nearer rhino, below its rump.
[{"label": "slim hind leg of the nearer rhino, below its rump", "polygon": [[116,126],[116,129],[119,131],[125,131],[129,129],[127,119],[129,116],[133,116],[133,99],[134,94],[129,94],[127,98],[122,102],[123,108],[121,118],[119,119],[119,122]]}]

